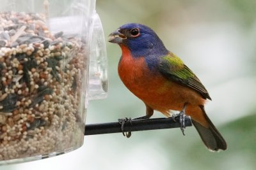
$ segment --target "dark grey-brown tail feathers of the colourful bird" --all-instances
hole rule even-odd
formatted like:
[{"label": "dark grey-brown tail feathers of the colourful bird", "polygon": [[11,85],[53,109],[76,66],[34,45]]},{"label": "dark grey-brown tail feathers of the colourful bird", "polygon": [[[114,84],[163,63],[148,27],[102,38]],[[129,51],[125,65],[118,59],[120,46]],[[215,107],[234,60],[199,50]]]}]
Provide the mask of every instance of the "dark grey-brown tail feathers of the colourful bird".
[{"label": "dark grey-brown tail feathers of the colourful bird", "polygon": [[226,150],[227,143],[225,139],[221,136],[220,132],[216,129],[216,127],[212,124],[209,117],[207,117],[204,106],[200,106],[202,112],[204,113],[204,117],[209,123],[209,128],[204,127],[203,125],[199,124],[195,120],[192,120],[193,125],[196,127],[201,139],[203,140],[205,146],[209,150],[218,151],[218,150]]}]

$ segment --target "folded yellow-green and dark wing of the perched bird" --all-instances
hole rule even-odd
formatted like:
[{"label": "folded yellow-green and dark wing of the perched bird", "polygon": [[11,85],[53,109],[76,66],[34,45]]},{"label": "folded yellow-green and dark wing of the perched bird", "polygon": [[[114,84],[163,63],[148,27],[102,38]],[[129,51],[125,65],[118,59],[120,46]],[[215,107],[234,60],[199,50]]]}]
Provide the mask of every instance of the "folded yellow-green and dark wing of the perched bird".
[{"label": "folded yellow-green and dark wing of the perched bird", "polygon": [[204,97],[204,99],[210,99],[209,93],[202,85],[201,81],[196,77],[196,75],[187,67],[182,60],[179,59],[173,53],[161,58],[159,63],[160,73],[163,74],[168,80],[176,81],[181,85],[190,87]]}]

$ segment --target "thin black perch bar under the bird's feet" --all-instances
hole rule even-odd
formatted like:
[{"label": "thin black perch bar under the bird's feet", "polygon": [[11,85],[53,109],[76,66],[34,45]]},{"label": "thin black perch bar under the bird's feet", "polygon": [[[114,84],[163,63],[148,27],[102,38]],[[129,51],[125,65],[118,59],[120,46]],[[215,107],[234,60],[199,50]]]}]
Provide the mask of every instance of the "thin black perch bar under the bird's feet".
[{"label": "thin black perch bar under the bird's feet", "polygon": [[[149,118],[143,120],[132,120],[132,122],[127,121],[124,124],[124,132],[148,131],[180,127],[179,117],[176,117],[175,120],[176,122],[173,120],[173,118]],[[186,127],[192,125],[190,117],[185,117],[185,125]],[[85,125],[84,135],[111,134],[119,132],[122,132],[119,122],[110,122],[104,124]]]}]

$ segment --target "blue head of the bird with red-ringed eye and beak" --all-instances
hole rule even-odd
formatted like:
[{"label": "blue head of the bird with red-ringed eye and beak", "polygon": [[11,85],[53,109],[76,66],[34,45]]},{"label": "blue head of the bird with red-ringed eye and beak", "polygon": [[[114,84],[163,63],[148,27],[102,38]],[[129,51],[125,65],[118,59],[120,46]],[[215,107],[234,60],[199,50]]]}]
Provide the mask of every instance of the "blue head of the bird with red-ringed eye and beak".
[{"label": "blue head of the bird with red-ringed eye and beak", "polygon": [[124,45],[131,50],[132,57],[152,58],[168,53],[163,42],[150,27],[142,24],[125,24],[109,34],[109,42]]}]

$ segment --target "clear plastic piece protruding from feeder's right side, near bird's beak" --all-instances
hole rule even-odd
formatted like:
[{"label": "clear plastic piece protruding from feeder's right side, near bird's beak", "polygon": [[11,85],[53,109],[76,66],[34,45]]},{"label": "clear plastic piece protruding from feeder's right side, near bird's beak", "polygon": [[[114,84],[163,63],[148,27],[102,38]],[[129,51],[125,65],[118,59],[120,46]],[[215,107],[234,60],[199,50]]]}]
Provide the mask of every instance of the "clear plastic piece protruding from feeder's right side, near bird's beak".
[{"label": "clear plastic piece protruding from feeder's right side, near bird's beak", "polygon": [[100,17],[94,11],[92,17],[92,41],[90,43],[89,100],[104,99],[108,92],[108,59]]}]

